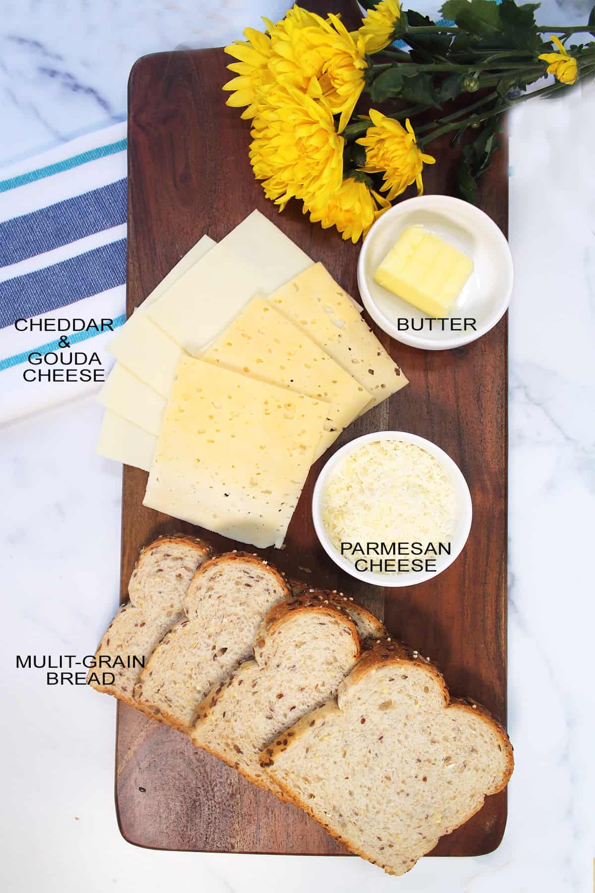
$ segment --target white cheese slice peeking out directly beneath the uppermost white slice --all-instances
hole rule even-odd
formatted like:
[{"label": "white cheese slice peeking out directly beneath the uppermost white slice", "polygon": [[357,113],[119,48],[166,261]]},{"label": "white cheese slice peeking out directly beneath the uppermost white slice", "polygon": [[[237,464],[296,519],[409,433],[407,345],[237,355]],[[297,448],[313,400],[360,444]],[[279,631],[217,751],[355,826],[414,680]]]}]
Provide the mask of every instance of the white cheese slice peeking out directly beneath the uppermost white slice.
[{"label": "white cheese slice peeking out directly beneath the uppermost white slice", "polygon": [[157,288],[145,298],[143,303],[128,318],[107,349],[139,379],[143,380],[161,396],[168,396],[174,379],[182,348],[169,335],[157,326],[147,313],[149,307],[178,280],[181,280],[195,263],[216,243],[208,236],[202,236],[196,245],[184,255],[176,266],[161,280]]}]

